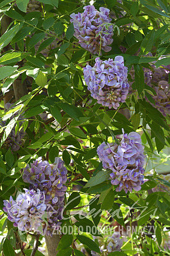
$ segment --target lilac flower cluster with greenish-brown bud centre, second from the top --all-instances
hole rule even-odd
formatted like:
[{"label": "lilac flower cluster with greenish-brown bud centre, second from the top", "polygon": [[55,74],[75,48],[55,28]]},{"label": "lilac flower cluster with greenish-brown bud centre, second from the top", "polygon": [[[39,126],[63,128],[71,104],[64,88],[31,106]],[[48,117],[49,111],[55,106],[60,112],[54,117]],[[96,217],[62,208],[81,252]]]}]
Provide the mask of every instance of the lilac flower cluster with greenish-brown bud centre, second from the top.
[{"label": "lilac flower cluster with greenish-brown bud centre, second from the top", "polygon": [[96,58],[94,67],[87,65],[84,69],[84,80],[91,96],[99,104],[109,109],[117,109],[120,102],[125,102],[129,91],[128,68],[124,66],[124,58],[100,60]]}]

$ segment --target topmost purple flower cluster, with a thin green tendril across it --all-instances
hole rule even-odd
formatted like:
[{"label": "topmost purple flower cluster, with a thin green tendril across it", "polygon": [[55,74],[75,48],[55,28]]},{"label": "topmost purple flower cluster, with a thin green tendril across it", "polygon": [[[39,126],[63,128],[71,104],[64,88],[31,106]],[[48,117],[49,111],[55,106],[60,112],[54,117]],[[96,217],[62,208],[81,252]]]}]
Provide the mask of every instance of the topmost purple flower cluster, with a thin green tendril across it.
[{"label": "topmost purple flower cluster, with a thin green tendril across it", "polygon": [[74,25],[74,36],[79,40],[80,46],[93,54],[99,54],[100,47],[105,52],[111,51],[113,39],[113,26],[106,23],[111,22],[109,9],[100,7],[97,11],[92,5],[85,6],[83,13],[71,14],[70,22]]}]

